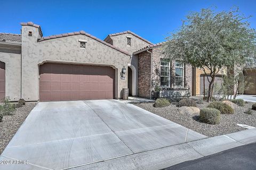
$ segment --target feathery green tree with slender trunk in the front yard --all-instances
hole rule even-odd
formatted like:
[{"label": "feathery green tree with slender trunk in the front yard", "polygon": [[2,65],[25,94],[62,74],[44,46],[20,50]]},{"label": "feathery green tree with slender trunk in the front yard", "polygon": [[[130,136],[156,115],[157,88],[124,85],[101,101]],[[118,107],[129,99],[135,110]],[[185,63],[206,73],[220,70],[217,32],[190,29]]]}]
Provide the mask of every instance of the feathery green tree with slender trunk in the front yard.
[{"label": "feathery green tree with slender trunk in the front yard", "polygon": [[179,59],[210,72],[208,98],[212,99],[215,76],[221,69],[244,64],[256,49],[256,32],[247,19],[236,10],[216,12],[202,9],[192,12],[181,28],[167,37],[167,58]]}]

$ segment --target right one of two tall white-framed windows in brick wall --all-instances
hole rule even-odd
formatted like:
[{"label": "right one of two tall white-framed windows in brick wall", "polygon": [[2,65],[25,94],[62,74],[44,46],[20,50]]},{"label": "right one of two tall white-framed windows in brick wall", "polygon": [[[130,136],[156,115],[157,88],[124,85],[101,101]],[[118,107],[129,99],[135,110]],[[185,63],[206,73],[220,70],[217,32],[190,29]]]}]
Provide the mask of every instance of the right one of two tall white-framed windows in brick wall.
[{"label": "right one of two tall white-framed windows in brick wall", "polygon": [[175,87],[183,87],[184,85],[184,64],[176,60],[175,61]]}]

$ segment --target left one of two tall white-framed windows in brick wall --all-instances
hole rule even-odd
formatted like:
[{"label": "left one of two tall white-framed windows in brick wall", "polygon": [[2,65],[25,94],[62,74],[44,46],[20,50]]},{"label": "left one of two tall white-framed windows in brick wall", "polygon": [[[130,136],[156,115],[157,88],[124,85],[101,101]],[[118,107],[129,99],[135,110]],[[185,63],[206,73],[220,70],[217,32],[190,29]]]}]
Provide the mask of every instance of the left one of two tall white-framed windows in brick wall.
[{"label": "left one of two tall white-framed windows in brick wall", "polygon": [[166,59],[161,59],[160,85],[170,87],[170,62]]}]

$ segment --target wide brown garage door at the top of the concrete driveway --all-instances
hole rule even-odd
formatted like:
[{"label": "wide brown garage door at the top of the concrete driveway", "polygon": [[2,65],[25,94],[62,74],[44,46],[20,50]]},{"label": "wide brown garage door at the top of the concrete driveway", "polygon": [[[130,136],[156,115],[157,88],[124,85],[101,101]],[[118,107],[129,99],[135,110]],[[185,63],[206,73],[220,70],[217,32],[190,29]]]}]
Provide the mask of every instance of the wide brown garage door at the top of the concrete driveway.
[{"label": "wide brown garage door at the top of the concrete driveway", "polygon": [[111,67],[44,63],[39,75],[40,101],[113,99],[115,95]]}]

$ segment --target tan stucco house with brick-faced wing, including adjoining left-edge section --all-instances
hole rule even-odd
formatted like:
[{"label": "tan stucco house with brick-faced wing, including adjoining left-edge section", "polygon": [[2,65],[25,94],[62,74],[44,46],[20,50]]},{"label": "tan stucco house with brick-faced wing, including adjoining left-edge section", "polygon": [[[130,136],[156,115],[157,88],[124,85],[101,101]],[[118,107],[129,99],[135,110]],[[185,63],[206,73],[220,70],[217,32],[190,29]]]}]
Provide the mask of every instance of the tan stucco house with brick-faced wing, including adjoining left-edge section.
[{"label": "tan stucco house with brick-faced wing, including adjoining left-edge section", "polygon": [[[164,59],[163,43],[124,31],[104,41],[85,31],[43,36],[33,22],[21,34],[0,34],[0,97],[11,101],[61,101],[189,96],[192,68]],[[127,71],[126,71],[127,70]]]}]

